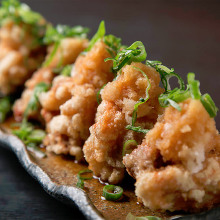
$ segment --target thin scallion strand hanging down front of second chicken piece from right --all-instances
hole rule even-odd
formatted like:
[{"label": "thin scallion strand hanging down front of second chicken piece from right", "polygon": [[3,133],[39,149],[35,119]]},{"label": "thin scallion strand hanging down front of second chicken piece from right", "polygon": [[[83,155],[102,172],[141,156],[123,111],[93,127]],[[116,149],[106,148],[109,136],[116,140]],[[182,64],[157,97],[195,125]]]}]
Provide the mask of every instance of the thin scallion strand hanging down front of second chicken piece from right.
[{"label": "thin scallion strand hanging down front of second chicken piece from right", "polygon": [[134,105],[134,111],[132,113],[132,122],[131,122],[131,125],[127,125],[126,126],[126,129],[128,130],[132,130],[132,131],[136,131],[136,132],[139,132],[139,133],[147,133],[149,130],[147,129],[142,129],[140,126],[138,127],[135,127],[135,122],[137,120],[137,110],[138,110],[138,107],[139,105],[141,104],[144,104],[145,102],[147,102],[147,100],[149,99],[149,89],[151,87],[151,84],[150,84],[150,80],[148,79],[147,75],[145,74],[145,72],[143,72],[140,68],[137,68],[135,66],[132,66],[134,69],[140,71],[142,73],[142,75],[144,77],[146,77],[147,81],[148,81],[148,85],[147,85],[147,88],[146,88],[146,92],[145,92],[145,98],[140,98],[139,101]]}]

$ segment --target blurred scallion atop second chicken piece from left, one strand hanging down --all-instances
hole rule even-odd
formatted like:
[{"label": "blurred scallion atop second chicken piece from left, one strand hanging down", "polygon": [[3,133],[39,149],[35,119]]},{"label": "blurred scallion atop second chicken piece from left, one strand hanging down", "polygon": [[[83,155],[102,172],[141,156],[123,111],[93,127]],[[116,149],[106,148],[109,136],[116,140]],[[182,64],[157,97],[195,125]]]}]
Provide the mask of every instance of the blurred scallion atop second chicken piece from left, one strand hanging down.
[{"label": "blurred scallion atop second chicken piece from left, one strand hanging down", "polygon": [[86,38],[88,32],[89,29],[82,26],[69,27],[67,25],[59,24],[56,27],[53,27],[52,25],[48,25],[43,42],[47,45],[54,44],[54,46],[50,56],[47,58],[43,66],[47,67],[51,63],[62,39],[68,37]]}]

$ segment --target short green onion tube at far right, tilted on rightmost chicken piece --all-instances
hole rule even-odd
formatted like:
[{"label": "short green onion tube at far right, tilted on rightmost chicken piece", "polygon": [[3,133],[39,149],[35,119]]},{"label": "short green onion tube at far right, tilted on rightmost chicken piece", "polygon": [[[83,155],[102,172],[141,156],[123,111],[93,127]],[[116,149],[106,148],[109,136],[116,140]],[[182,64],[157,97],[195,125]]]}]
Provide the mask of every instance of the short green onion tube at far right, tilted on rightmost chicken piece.
[{"label": "short green onion tube at far right, tilted on rightmost chicken piece", "polygon": [[214,118],[217,115],[218,108],[215,106],[215,103],[212,100],[211,96],[208,93],[204,94],[201,97],[201,102],[206,111],[209,113],[209,116],[211,118]]}]

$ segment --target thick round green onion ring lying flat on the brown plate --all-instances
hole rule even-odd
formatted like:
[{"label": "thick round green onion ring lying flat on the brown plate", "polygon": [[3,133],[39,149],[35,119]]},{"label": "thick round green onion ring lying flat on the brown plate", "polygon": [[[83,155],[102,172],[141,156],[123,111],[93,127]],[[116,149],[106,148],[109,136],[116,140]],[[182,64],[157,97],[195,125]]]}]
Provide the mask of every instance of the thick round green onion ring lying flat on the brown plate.
[{"label": "thick round green onion ring lying flat on the brown plate", "polygon": [[106,200],[116,201],[122,197],[123,189],[120,186],[106,185],[103,188],[103,196]]}]

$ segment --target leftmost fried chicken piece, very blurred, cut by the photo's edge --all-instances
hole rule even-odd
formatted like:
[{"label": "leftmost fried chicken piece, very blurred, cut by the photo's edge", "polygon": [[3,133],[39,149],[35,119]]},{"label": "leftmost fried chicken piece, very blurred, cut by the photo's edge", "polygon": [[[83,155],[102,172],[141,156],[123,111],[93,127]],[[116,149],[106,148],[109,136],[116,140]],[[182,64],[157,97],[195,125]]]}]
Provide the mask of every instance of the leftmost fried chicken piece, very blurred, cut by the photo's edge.
[{"label": "leftmost fried chicken piece, very blurred, cut by the photo's edge", "polygon": [[27,24],[8,21],[1,27],[0,93],[15,92],[43,62],[46,48],[36,41]]}]

